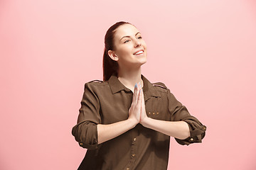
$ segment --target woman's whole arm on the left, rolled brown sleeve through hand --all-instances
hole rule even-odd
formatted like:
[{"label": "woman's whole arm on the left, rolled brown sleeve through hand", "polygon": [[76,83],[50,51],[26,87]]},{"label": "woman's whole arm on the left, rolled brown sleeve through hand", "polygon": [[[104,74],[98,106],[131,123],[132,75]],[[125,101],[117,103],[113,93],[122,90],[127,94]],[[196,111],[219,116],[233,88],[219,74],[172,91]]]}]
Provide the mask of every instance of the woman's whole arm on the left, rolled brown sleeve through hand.
[{"label": "woman's whole arm on the left, rolled brown sleeve through hand", "polygon": [[72,129],[72,135],[80,147],[96,149],[100,143],[111,140],[134,128],[139,123],[141,112],[141,107],[138,104],[139,98],[142,98],[142,93],[139,93],[138,87],[135,86],[128,119],[109,125],[102,125],[100,124],[99,112],[100,101],[94,92],[92,84],[86,83],[81,108],[79,109],[78,123]]}]

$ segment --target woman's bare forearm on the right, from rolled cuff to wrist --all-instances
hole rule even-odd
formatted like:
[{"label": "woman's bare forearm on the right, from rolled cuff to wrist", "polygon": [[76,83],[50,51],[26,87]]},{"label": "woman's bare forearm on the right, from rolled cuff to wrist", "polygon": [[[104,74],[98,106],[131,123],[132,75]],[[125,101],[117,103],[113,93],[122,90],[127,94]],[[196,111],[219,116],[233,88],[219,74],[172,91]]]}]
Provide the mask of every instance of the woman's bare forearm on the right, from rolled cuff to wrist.
[{"label": "woman's bare forearm on the right, from rolled cuff to wrist", "polygon": [[145,118],[142,125],[180,140],[184,140],[190,136],[188,123],[184,121],[164,121]]}]

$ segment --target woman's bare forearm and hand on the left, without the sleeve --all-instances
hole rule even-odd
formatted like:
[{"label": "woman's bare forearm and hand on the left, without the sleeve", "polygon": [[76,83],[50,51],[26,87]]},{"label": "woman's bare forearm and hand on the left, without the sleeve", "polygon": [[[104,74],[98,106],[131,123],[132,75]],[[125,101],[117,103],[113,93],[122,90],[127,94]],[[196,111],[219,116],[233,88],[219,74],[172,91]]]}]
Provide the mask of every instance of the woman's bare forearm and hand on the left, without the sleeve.
[{"label": "woman's bare forearm and hand on the left, without the sleeve", "polygon": [[141,112],[141,104],[139,101],[141,101],[142,94],[142,90],[135,85],[132,105],[129,108],[129,118],[127,120],[122,120],[109,125],[97,125],[98,144],[111,140],[112,138],[127,132],[127,130],[134,128],[135,125],[139,123],[139,116]]}]

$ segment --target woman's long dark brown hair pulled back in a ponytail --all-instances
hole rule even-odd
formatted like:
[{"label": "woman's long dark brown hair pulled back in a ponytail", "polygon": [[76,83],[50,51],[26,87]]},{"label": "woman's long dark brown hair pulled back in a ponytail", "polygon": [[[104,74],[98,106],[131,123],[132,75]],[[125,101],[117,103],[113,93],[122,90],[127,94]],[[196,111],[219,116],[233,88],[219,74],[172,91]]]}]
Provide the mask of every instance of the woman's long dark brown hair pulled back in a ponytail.
[{"label": "woman's long dark brown hair pulled back in a ponytail", "polygon": [[[111,26],[105,35],[105,50],[103,54],[103,81],[107,81],[110,79],[112,74],[115,74],[117,76],[117,70],[119,68],[119,65],[116,61],[112,60],[110,56],[107,54],[108,50],[114,50],[114,33],[116,32],[117,28],[119,26],[122,26],[128,22],[119,21],[117,23],[114,23],[113,26]],[[128,23],[131,24],[131,23]],[[132,24],[131,24],[132,25]]]}]

